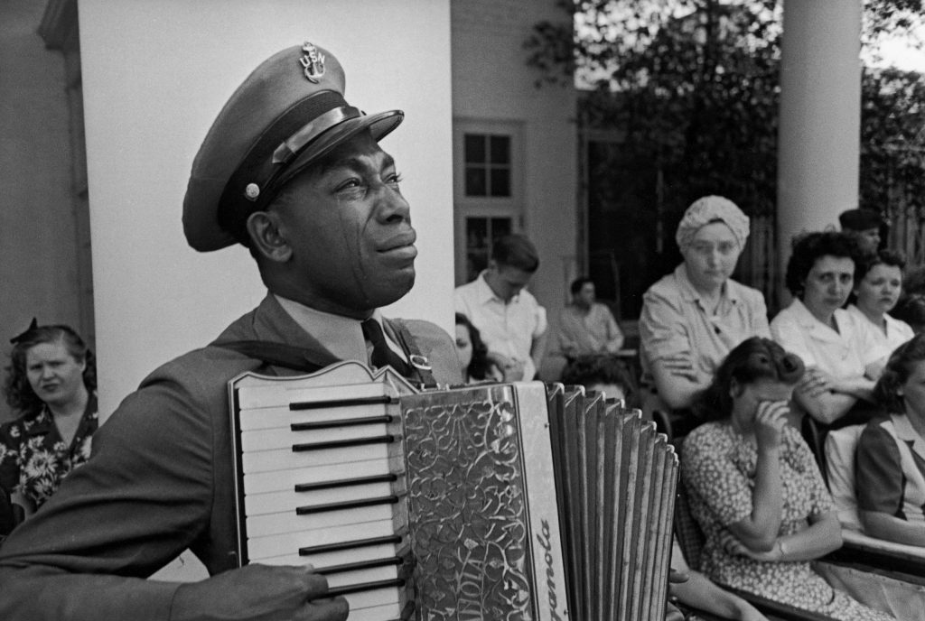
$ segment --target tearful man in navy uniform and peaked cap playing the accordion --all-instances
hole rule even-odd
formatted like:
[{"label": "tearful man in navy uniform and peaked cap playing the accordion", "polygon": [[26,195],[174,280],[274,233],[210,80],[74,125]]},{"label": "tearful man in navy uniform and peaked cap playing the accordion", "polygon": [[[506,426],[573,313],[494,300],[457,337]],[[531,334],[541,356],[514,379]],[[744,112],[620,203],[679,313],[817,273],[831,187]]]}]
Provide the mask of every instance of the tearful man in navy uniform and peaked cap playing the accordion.
[{"label": "tearful man in navy uniform and peaked cap playing the accordion", "polygon": [[[415,233],[377,141],[398,110],[344,101],[337,59],[311,43],[267,59],[216,118],[192,165],[183,225],[196,250],[252,253],[269,293],[208,347],[154,371],[94,436],[93,457],[0,551],[3,619],[344,619],[306,567],[239,568],[228,380],[341,359],[420,384],[459,383],[450,336],[378,309],[414,282]],[[212,578],[145,580],[186,548]]]}]

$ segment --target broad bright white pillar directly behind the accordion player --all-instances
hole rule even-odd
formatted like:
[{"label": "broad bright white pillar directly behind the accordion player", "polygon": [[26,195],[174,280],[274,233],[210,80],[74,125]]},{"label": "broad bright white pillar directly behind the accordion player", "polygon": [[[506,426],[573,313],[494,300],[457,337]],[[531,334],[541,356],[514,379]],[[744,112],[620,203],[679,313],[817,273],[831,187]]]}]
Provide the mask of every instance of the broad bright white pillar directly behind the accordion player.
[{"label": "broad bright white pillar directly behind the accordion player", "polygon": [[348,102],[405,111],[383,146],[412,205],[418,279],[386,314],[452,326],[450,0],[80,0],[101,414],[264,296],[246,250],[186,246],[181,205],[228,95],[305,40],[338,56]]}]

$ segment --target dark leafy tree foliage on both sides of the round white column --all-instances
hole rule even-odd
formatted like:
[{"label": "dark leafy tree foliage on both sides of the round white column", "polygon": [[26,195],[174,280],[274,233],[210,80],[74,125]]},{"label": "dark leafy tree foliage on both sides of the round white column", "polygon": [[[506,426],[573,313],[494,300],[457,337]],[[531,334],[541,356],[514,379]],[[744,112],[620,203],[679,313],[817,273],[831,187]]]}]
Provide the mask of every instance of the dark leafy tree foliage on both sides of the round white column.
[{"label": "dark leafy tree foliage on both sides of the round white column", "polygon": [[[925,0],[865,0],[869,55],[887,34],[923,23]],[[537,83],[587,90],[583,125],[625,132],[621,157],[642,160],[668,189],[666,213],[709,191],[748,213],[776,203],[780,0],[561,0],[570,29],[536,25],[525,46]],[[865,70],[861,203],[882,212],[902,186],[921,210],[923,85],[919,74]],[[893,188],[893,189],[891,189]],[[887,196],[889,192],[893,192]],[[671,218],[669,217],[669,221]],[[671,223],[666,226],[672,230]]]}]

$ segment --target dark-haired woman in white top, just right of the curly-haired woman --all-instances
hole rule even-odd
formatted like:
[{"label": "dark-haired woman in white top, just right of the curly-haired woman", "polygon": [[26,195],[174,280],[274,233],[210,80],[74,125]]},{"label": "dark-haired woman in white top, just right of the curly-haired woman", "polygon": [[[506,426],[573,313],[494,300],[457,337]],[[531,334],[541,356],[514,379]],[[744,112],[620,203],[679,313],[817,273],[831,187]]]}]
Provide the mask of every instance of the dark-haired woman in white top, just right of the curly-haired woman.
[{"label": "dark-haired woman in white top, just right of the curly-haired woman", "polygon": [[909,324],[889,315],[903,290],[906,259],[893,250],[881,250],[855,267],[854,303],[848,306],[860,321],[873,326],[878,342],[893,351],[914,334]]}]

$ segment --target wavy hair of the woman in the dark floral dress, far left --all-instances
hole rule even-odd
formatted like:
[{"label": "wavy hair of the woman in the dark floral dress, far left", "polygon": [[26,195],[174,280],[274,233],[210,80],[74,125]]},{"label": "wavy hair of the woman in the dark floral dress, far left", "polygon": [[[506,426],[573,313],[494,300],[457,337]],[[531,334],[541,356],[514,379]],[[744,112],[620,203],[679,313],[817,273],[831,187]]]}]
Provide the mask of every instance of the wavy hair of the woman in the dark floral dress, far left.
[{"label": "wavy hair of the woman in the dark floral dress, far left", "polygon": [[9,354],[10,364],[6,367],[3,392],[10,408],[26,413],[37,413],[43,408],[43,401],[32,390],[26,374],[26,353],[43,343],[63,343],[78,362],[86,362],[83,370],[83,385],[93,393],[96,390],[96,359],[93,352],[72,328],[67,325],[40,325],[16,337],[16,343]]}]

